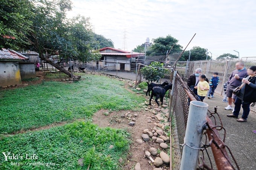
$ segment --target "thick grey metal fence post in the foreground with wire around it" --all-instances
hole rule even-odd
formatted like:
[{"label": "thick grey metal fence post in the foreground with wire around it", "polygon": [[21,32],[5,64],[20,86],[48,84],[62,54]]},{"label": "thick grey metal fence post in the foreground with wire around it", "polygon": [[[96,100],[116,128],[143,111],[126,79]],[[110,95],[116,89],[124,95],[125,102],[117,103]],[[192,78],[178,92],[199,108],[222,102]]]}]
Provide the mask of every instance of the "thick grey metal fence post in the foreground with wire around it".
[{"label": "thick grey metal fence post in the foreground with wire around it", "polygon": [[204,102],[190,102],[180,170],[195,170],[197,167],[208,107]]}]

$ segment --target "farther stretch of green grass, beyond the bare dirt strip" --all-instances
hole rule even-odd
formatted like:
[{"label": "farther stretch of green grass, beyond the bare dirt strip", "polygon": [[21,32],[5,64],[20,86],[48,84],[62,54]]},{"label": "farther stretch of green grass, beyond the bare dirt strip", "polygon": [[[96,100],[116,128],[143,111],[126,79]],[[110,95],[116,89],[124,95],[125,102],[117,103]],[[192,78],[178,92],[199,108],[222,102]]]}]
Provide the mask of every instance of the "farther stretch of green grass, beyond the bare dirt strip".
[{"label": "farther stretch of green grass, beyond the bare dirt strip", "polygon": [[82,78],[83,81],[76,83],[44,81],[1,91],[0,133],[87,118],[101,108],[136,110],[144,102],[141,96],[123,88],[122,81],[98,75]]}]

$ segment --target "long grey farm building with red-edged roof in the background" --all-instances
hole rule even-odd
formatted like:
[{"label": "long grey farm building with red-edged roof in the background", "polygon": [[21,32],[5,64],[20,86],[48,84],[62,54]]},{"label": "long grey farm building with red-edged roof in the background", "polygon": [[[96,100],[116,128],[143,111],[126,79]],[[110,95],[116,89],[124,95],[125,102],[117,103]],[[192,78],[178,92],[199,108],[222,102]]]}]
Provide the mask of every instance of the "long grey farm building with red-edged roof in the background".
[{"label": "long grey farm building with red-edged roof in the background", "polygon": [[144,56],[145,53],[136,53],[124,51],[116,48],[105,47],[99,50],[102,55],[103,63],[97,63],[104,66],[114,66],[116,70],[131,71],[131,64],[136,63],[136,59]]}]

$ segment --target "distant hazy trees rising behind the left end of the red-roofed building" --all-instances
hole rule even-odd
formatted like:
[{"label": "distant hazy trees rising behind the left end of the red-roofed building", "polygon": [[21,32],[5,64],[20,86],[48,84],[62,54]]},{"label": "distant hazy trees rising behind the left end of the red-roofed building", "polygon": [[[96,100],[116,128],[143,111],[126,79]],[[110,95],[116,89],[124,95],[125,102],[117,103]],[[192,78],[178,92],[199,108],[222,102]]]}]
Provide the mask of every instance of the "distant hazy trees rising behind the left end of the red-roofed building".
[{"label": "distant hazy trees rising behind the left end of the red-roofed building", "polygon": [[112,47],[114,48],[114,42],[111,39],[105,38],[103,35],[98,35],[96,33],[93,33],[94,37],[94,49],[101,49],[104,47]]}]

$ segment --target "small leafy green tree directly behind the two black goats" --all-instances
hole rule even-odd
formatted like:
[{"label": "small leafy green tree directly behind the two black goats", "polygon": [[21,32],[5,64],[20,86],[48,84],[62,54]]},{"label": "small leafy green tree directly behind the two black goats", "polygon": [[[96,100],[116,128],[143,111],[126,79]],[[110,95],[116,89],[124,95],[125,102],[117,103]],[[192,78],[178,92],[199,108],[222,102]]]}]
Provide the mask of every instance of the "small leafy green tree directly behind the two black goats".
[{"label": "small leafy green tree directly behind the two black goats", "polygon": [[166,69],[158,69],[163,68],[163,63],[160,62],[152,62],[149,66],[156,67],[143,67],[140,69],[140,72],[145,80],[148,81],[148,83],[151,81],[158,82],[160,78],[164,78],[165,74],[167,73]]}]

